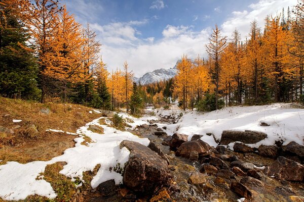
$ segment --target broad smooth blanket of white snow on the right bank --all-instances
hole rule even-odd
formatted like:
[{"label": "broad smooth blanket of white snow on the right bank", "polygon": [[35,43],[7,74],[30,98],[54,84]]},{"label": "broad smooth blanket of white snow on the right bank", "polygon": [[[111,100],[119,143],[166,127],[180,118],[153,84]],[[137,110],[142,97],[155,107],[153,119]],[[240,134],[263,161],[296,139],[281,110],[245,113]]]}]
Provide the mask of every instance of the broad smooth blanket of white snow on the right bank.
[{"label": "broad smooth blanket of white snow on the right bank", "polygon": [[[159,116],[173,116],[176,112],[160,110]],[[264,122],[270,126],[260,126]],[[212,133],[216,139],[220,139],[223,130],[255,130],[268,134],[268,137],[257,144],[247,144],[258,147],[259,145],[274,145],[275,141],[283,140],[284,144],[295,141],[304,145],[304,109],[294,108],[292,104],[272,104],[251,107],[229,107],[221,110],[198,113],[186,112],[176,124],[159,124],[159,127],[167,126],[169,135],[181,133],[189,135],[188,140],[194,134],[204,135],[202,140],[212,146],[216,146]],[[233,146],[230,145],[230,146]]]}]

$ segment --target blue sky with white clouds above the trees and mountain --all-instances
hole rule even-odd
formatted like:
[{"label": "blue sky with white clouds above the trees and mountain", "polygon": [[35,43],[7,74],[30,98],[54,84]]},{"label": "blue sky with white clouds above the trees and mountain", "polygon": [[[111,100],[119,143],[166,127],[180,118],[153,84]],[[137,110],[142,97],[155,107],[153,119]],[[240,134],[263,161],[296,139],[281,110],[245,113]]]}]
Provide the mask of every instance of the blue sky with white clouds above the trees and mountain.
[{"label": "blue sky with white clouds above the trees and mountain", "polygon": [[[205,45],[217,24],[231,38],[248,35],[267,15],[292,10],[297,0],[62,0],[78,22],[90,23],[102,43],[108,70],[129,63],[135,76],[171,68],[186,54],[206,57]],[[286,16],[286,13],[285,13]]]}]

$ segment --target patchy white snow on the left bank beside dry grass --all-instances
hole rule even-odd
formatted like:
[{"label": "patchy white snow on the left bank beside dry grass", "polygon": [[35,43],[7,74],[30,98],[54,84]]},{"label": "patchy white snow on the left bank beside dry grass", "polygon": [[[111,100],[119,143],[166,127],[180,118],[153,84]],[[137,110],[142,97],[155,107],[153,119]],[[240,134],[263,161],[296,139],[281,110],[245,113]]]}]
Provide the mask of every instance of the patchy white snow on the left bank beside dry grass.
[{"label": "patchy white snow on the left bank beside dry grass", "polygon": [[[145,123],[148,124],[129,115],[122,115],[132,119],[132,127]],[[59,157],[55,157],[47,162],[36,161],[27,164],[7,162],[7,164],[0,166],[0,198],[5,200],[21,200],[33,194],[55,198],[55,191],[50,183],[45,181],[43,176],[40,176],[40,173],[45,171],[47,165],[56,162],[67,163],[60,173],[70,177],[72,180],[77,177],[82,179],[83,172],[88,170],[93,171],[95,166],[100,164],[100,169],[91,181],[92,188],[109,179],[115,179],[116,184],[121,183],[123,180],[121,174],[109,171],[110,167],[116,167],[119,164],[124,166],[129,159],[129,150],[125,147],[120,149],[119,144],[127,139],[148,145],[149,140],[147,138],[139,138],[130,132],[123,132],[106,125],[100,125],[98,123],[99,119],[95,119],[86,124],[86,126],[79,128],[77,134],[80,137],[74,139],[77,142],[75,147],[66,149],[64,154]],[[88,130],[89,125],[103,127],[104,134]],[[50,130],[60,133],[64,132]],[[88,146],[81,144],[84,141],[84,135],[93,140],[92,143],[88,143]]]}]

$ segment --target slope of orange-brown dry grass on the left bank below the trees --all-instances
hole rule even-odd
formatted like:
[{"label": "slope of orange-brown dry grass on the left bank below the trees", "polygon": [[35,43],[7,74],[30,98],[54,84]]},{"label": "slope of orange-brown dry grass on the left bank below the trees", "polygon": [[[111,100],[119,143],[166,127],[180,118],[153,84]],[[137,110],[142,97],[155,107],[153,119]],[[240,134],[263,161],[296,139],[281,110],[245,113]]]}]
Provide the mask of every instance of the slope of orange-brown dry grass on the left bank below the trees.
[{"label": "slope of orange-brown dry grass on the left bank below the trees", "polygon": [[[43,114],[42,109],[49,109]],[[73,104],[33,103],[21,99],[0,97],[0,126],[13,129],[14,133],[0,133],[0,165],[7,161],[28,163],[48,161],[59,156],[66,148],[73,147],[74,135],[46,131],[57,129],[75,133],[86,123],[100,117],[91,108]],[[21,122],[13,123],[13,119]],[[37,132],[31,128],[32,124]]]}]

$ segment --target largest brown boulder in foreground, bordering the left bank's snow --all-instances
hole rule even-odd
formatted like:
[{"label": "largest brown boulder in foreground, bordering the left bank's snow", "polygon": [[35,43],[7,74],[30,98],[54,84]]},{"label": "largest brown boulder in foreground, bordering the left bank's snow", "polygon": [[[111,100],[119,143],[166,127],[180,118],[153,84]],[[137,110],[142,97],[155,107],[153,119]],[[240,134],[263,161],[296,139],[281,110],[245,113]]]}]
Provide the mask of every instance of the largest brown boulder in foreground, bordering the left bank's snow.
[{"label": "largest brown boulder in foreground, bordering the left bank's snow", "polygon": [[156,189],[170,184],[167,162],[155,151],[129,140],[120,143],[120,148],[130,150],[129,161],[126,163],[123,183],[133,191],[153,193]]}]

